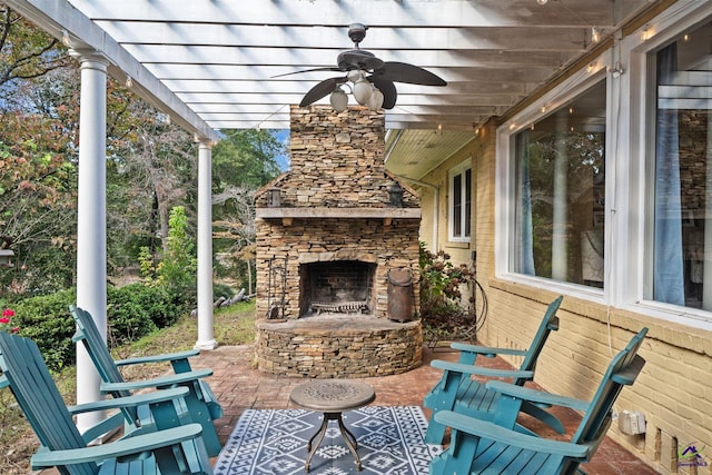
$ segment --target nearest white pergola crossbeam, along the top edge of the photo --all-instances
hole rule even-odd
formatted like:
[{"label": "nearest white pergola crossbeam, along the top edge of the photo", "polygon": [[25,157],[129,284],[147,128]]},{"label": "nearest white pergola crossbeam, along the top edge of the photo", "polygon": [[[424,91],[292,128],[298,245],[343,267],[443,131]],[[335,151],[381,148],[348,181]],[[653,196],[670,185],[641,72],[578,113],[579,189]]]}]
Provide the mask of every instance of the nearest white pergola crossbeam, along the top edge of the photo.
[{"label": "nearest white pergola crossbeam, along the top edge of the photo", "polygon": [[[354,22],[372,28],[397,26],[422,27],[486,27],[491,24],[518,26],[526,22],[551,24],[611,24],[614,7],[611,1],[566,0],[566,8],[553,4],[543,9],[535,1],[517,2],[516,8],[502,8],[502,0],[477,1],[382,1],[366,7],[358,1],[258,1],[246,4],[237,1],[192,0],[157,2],[121,0],[100,2],[71,0],[93,19],[113,19],[170,22],[208,22],[231,19],[241,24],[300,24],[344,27]],[[609,8],[602,8],[607,4]],[[624,7],[619,7],[624,9]],[[573,14],[575,11],[577,14]]]}]

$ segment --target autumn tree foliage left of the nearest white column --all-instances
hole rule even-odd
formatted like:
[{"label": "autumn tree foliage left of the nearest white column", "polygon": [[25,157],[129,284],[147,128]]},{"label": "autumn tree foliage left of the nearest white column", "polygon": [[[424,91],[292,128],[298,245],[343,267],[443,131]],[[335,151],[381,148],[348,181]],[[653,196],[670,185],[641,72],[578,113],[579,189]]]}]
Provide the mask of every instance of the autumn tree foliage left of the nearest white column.
[{"label": "autumn tree foliage left of the nearest white column", "polygon": [[60,42],[0,3],[0,239],[17,256],[3,291],[71,284],[77,113],[58,106],[76,100],[70,65]]}]

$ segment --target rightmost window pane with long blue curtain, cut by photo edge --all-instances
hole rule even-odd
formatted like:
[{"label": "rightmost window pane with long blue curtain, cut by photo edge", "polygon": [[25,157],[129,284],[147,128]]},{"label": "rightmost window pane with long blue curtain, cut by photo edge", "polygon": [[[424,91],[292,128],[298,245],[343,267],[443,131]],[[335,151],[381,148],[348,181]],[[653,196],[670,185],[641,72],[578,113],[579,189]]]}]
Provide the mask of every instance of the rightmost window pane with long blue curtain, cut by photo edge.
[{"label": "rightmost window pane with long blue curtain, cut by photo edge", "polygon": [[[652,55],[656,65],[653,243],[657,301],[712,309],[712,23]],[[710,287],[708,285],[708,287]],[[647,290],[650,294],[651,290]]]}]

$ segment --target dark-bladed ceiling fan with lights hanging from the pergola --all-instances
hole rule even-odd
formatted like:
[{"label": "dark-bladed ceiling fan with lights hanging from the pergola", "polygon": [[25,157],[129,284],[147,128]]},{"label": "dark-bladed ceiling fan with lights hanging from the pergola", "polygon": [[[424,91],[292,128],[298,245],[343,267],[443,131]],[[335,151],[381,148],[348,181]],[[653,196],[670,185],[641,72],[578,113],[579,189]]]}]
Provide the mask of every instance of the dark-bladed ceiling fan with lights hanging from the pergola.
[{"label": "dark-bladed ceiling fan with lights hanging from the pergola", "polygon": [[[405,82],[421,86],[447,86],[441,77],[417,66],[397,61],[383,61],[370,52],[363,50],[358,44],[366,38],[368,27],[362,23],[353,23],[348,27],[348,37],[354,42],[355,49],[343,51],[336,59],[336,67],[305,69],[287,72],[276,77],[297,75],[309,71],[340,71],[345,76],[338,76],[323,80],[313,87],[299,102],[299,107],[307,107],[317,100],[330,96],[334,110],[346,110],[348,98],[342,86],[350,88],[354,98],[362,106],[372,110],[393,109],[398,96],[394,82]],[[348,85],[350,81],[352,85]]]}]

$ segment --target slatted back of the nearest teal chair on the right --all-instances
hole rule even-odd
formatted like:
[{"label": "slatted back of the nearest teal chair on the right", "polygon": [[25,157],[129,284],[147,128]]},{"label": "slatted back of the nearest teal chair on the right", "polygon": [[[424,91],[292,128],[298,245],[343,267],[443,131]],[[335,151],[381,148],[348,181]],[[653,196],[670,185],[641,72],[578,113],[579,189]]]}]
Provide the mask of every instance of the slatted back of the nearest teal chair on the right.
[{"label": "slatted back of the nearest teal chair on the right", "polygon": [[623,386],[630,386],[635,382],[645,365],[645,359],[637,355],[637,350],[646,334],[647,328],[641,329],[611,360],[571,442],[594,445],[601,443],[611,424],[611,409],[615,399]]}]

